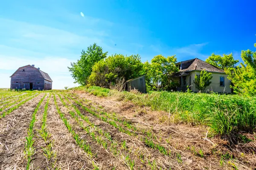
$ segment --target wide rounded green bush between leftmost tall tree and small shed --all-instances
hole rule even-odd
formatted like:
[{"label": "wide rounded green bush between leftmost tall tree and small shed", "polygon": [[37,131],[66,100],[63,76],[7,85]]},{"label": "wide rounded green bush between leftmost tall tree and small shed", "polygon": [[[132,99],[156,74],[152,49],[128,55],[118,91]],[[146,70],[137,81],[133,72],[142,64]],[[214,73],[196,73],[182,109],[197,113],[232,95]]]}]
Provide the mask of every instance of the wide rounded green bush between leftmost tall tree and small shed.
[{"label": "wide rounded green bush between leftmost tall tree and small shed", "polygon": [[111,83],[116,82],[116,78],[125,80],[140,76],[143,63],[139,55],[124,56],[115,54],[106,59],[102,59],[93,65],[93,71],[89,77],[91,85],[109,88]]}]

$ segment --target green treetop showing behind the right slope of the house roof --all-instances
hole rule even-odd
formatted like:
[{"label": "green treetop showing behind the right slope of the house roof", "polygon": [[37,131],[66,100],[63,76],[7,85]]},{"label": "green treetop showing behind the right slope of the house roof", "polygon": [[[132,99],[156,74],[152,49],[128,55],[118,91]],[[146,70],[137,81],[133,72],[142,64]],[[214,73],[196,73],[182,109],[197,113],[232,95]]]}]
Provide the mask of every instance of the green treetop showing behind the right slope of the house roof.
[{"label": "green treetop showing behind the right slope of the house roof", "polygon": [[214,65],[217,68],[225,70],[227,68],[234,68],[236,63],[239,62],[239,60],[234,59],[232,53],[230,53],[228,55],[223,54],[223,57],[212,53],[212,55],[206,59],[206,62],[211,65]]}]

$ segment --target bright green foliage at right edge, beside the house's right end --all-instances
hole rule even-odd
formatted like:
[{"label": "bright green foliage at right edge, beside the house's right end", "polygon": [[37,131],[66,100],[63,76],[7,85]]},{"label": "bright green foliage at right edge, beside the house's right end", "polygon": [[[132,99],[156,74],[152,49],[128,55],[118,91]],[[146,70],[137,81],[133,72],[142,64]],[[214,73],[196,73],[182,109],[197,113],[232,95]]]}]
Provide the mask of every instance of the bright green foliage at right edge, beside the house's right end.
[{"label": "bright green foliage at right edge, beside the house's right end", "polygon": [[242,51],[241,58],[244,64],[227,69],[227,78],[233,83],[236,94],[256,95],[256,52]]}]

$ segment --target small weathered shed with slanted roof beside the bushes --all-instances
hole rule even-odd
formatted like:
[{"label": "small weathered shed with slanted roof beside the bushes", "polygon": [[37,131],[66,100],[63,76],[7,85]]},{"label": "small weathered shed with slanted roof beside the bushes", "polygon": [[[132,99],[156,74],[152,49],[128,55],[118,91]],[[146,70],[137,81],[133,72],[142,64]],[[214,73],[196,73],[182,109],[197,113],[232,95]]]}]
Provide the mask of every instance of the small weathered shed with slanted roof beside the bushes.
[{"label": "small weathered shed with slanted roof beside the bushes", "polygon": [[129,79],[128,81],[126,81],[128,85],[128,91],[137,89],[141,93],[147,93],[145,75],[146,74],[143,74],[140,77],[136,77],[134,79]]}]

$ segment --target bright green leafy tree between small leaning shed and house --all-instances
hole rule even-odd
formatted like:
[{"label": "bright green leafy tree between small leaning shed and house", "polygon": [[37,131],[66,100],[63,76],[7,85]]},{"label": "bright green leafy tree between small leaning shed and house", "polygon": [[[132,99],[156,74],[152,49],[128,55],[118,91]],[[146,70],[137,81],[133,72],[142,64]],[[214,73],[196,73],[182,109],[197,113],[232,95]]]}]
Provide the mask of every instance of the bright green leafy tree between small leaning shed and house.
[{"label": "bright green leafy tree between small leaning shed and house", "polygon": [[170,82],[170,74],[178,71],[175,63],[177,58],[175,56],[162,55],[155,56],[151,63],[148,61],[144,63],[143,70],[146,75],[146,83],[148,90],[171,90],[177,84]]}]

